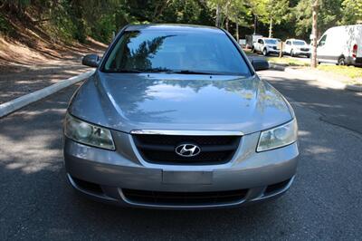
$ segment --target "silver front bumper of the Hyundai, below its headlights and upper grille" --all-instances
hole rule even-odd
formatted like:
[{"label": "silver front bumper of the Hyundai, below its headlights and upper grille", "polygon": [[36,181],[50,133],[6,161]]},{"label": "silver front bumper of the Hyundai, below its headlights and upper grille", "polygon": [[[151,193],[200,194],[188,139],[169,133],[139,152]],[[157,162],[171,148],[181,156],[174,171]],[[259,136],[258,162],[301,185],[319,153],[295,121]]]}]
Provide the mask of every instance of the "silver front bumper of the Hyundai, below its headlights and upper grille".
[{"label": "silver front bumper of the Hyundai, below its headlights and upper grille", "polygon": [[[129,207],[237,207],[276,198],[290,188],[299,155],[297,143],[257,153],[260,133],[244,135],[233,159],[220,165],[180,166],[148,163],[141,158],[132,136],[112,131],[116,151],[88,147],[64,138],[64,161],[71,186],[90,198]],[[206,193],[243,190],[228,202],[170,204],[135,201],[123,190]]]}]

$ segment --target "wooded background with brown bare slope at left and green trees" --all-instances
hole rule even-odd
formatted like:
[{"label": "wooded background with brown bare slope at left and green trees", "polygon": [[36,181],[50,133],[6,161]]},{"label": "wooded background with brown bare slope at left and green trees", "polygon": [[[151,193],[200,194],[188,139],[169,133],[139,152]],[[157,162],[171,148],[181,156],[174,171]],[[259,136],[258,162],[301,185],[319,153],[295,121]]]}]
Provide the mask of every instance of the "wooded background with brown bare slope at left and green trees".
[{"label": "wooded background with brown bare slope at left and green trees", "polygon": [[[215,25],[308,40],[310,0],[0,0],[0,66],[68,58],[110,43],[126,24]],[[319,34],[362,19],[362,0],[319,0]],[[255,21],[257,20],[257,21]],[[86,43],[85,45],[83,43]]]}]

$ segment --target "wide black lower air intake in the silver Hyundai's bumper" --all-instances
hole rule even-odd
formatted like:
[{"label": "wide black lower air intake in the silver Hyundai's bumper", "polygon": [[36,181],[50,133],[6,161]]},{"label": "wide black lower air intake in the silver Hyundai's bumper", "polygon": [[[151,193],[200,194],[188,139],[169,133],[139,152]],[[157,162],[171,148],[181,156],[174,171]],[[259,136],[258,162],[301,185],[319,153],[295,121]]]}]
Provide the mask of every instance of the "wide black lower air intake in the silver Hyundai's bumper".
[{"label": "wide black lower air intake in the silver Hyundai's bumper", "polygon": [[163,192],[122,189],[125,198],[133,203],[192,206],[232,204],[243,200],[248,189],[217,192]]}]

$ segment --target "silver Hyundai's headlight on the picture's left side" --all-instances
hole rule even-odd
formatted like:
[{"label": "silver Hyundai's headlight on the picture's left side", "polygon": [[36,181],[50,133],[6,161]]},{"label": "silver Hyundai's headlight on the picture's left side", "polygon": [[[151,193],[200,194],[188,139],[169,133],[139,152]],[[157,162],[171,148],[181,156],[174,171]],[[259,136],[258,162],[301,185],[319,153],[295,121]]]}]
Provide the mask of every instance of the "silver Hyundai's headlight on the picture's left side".
[{"label": "silver Hyundai's headlight on the picture's left side", "polygon": [[110,130],[78,120],[66,114],[64,135],[71,140],[102,149],[116,149]]}]

